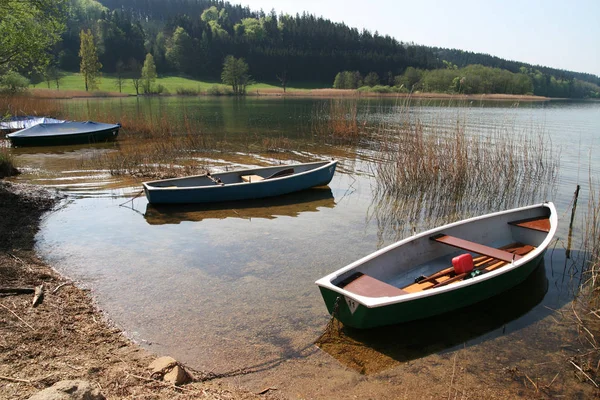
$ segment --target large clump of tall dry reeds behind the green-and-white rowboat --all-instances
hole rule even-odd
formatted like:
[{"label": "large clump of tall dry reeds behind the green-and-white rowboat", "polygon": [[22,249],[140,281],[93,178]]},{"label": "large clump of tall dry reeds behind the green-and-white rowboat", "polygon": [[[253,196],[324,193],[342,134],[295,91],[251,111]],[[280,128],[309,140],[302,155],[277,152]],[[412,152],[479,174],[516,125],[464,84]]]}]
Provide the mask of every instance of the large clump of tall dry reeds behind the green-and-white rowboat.
[{"label": "large clump of tall dry reeds behind the green-and-white rowboat", "polygon": [[468,109],[455,121],[401,107],[403,117],[382,124],[372,172],[370,218],[380,239],[408,236],[469,216],[544,201],[556,190],[560,152],[540,131],[499,124],[469,126]]}]

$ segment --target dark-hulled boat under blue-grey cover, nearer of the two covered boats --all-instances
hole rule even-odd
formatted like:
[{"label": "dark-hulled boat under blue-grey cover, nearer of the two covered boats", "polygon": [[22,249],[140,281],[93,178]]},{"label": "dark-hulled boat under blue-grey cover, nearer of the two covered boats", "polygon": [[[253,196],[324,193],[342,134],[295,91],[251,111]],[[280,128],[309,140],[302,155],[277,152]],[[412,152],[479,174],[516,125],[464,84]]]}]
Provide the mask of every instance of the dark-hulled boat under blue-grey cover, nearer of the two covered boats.
[{"label": "dark-hulled boat under blue-grey cover, nearer of the two covered boats", "polygon": [[116,139],[120,124],[101,122],[62,122],[38,124],[6,135],[13,146],[56,146],[98,143]]}]

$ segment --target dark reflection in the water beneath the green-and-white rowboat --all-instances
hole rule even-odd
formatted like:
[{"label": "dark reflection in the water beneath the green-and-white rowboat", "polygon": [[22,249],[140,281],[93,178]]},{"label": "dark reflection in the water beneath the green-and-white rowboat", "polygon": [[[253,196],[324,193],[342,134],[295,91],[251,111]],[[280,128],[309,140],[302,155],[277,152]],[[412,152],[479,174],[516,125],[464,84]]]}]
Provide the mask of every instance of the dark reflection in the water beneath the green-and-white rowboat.
[{"label": "dark reflection in the water beneath the green-and-white rowboat", "polygon": [[503,335],[506,324],[532,310],[547,292],[548,279],[542,262],[520,285],[478,304],[432,318],[368,330],[343,327],[335,321],[316,344],[349,368],[362,374],[377,373],[455,346],[473,345],[494,330],[497,332],[493,336]]}]

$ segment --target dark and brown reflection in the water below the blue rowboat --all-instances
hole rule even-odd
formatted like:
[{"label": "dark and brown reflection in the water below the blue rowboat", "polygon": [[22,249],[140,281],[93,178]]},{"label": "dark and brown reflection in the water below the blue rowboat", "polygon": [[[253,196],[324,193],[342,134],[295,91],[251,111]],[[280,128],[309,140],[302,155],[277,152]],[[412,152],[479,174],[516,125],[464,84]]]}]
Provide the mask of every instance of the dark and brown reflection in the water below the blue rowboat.
[{"label": "dark and brown reflection in the water below the blue rowboat", "polygon": [[316,187],[283,196],[217,204],[148,204],[144,218],[150,225],[179,224],[183,221],[225,218],[297,217],[303,212],[317,212],[335,207],[329,186]]}]

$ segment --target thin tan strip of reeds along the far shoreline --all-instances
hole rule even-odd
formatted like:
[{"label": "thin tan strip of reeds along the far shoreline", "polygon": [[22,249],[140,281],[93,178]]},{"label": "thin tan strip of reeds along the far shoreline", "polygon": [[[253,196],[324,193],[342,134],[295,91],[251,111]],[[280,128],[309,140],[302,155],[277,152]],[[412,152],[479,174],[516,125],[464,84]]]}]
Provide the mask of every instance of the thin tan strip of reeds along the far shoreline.
[{"label": "thin tan strip of reeds along the far shoreline", "polygon": [[[76,99],[76,98],[98,98],[98,97],[136,97],[135,95],[119,92],[92,91],[84,90],[55,90],[55,89],[30,89],[29,93],[36,98],[46,99]],[[160,96],[178,96],[175,94]],[[206,93],[200,93],[196,96],[211,96]],[[555,101],[566,100],[559,98],[549,98],[534,95],[514,95],[514,94],[447,94],[447,93],[376,93],[365,92],[354,89],[283,89],[258,88],[248,89],[247,96],[251,97],[305,97],[305,98],[399,98],[399,99],[430,99],[430,100],[477,100],[477,101]],[[140,97],[146,97],[140,95]],[[152,96],[148,96],[152,97]]]}]

